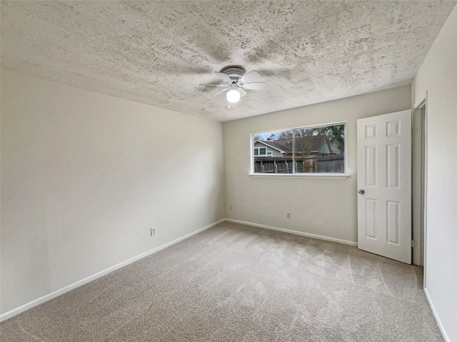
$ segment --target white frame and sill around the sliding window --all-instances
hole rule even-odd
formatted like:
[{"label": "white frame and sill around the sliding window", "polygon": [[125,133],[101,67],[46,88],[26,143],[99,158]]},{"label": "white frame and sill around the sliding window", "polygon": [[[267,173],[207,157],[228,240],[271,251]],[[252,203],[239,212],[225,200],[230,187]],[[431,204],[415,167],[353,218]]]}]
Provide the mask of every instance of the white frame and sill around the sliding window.
[{"label": "white frame and sill around the sliding window", "polygon": [[[279,131],[294,131],[297,129],[318,129],[320,127],[326,126],[336,126],[336,125],[344,125],[344,172],[343,173],[296,173],[295,166],[293,166],[293,173],[255,173],[254,172],[254,136],[258,134],[269,134],[273,132]],[[346,179],[351,176],[351,173],[348,171],[348,121],[336,121],[331,122],[328,124],[317,124],[317,125],[308,125],[308,126],[297,126],[292,128],[285,128],[285,129],[276,129],[276,130],[269,130],[263,131],[258,133],[249,134],[249,146],[251,147],[249,151],[249,158],[250,158],[250,170],[249,176],[253,177],[268,177],[268,178],[330,178],[330,179]],[[293,144],[295,144],[295,137],[293,139]],[[294,151],[294,150],[293,150]],[[260,151],[259,151],[260,153]],[[258,154],[257,156],[261,156]],[[263,155],[262,155],[263,156]]]}]

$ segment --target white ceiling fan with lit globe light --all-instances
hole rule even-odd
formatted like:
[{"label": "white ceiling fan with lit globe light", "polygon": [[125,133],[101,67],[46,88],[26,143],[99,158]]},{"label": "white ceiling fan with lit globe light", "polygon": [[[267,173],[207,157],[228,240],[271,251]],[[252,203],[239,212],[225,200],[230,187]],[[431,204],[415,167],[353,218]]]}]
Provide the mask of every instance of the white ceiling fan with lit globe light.
[{"label": "white ceiling fan with lit globe light", "polygon": [[244,89],[261,90],[265,88],[266,82],[261,74],[253,70],[245,74],[246,70],[242,66],[226,66],[220,72],[215,72],[224,82],[222,84],[200,84],[200,86],[221,86],[224,89],[216,91],[212,96],[227,92],[227,101],[236,103],[241,96],[247,93]]}]

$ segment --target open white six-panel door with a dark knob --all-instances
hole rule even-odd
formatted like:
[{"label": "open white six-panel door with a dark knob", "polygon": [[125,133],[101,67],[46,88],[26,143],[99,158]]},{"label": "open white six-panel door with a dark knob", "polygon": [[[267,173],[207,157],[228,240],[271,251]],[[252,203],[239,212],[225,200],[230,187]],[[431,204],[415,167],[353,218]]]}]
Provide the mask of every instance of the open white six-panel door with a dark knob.
[{"label": "open white six-panel door with a dark knob", "polygon": [[411,111],[357,120],[358,248],[411,263]]}]

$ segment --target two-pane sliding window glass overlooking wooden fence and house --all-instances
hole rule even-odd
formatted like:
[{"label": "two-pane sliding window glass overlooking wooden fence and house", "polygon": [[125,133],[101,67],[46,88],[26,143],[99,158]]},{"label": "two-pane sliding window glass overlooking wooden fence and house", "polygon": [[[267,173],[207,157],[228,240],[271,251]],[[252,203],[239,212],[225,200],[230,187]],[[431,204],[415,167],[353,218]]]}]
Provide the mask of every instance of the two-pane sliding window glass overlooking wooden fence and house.
[{"label": "two-pane sliding window glass overlooking wooden fence and house", "polygon": [[346,173],[346,123],[251,134],[251,173]]}]

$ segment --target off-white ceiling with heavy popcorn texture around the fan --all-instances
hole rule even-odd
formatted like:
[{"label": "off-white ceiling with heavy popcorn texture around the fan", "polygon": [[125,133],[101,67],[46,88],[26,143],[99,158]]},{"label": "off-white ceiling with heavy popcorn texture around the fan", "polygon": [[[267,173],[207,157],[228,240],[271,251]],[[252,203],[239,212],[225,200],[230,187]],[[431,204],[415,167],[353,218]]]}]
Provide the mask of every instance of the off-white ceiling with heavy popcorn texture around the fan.
[{"label": "off-white ceiling with heavy popcorn texture around the fan", "polygon": [[[456,1],[1,1],[1,64],[228,121],[408,84]],[[228,108],[214,71],[259,71]]]}]

